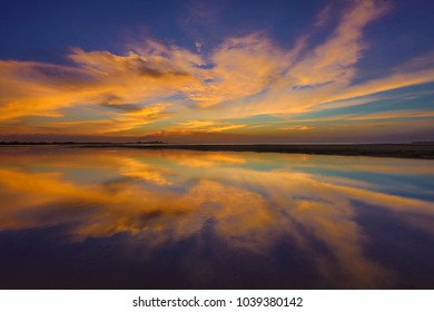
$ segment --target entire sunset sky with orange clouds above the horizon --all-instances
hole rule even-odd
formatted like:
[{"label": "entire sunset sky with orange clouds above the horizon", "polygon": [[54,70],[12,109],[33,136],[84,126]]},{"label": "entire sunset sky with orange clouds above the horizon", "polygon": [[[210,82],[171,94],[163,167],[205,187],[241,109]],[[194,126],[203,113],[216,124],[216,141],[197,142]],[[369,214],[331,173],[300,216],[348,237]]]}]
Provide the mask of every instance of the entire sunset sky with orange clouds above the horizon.
[{"label": "entire sunset sky with orange clouds above the horizon", "polygon": [[0,140],[434,140],[434,1],[24,1]]}]

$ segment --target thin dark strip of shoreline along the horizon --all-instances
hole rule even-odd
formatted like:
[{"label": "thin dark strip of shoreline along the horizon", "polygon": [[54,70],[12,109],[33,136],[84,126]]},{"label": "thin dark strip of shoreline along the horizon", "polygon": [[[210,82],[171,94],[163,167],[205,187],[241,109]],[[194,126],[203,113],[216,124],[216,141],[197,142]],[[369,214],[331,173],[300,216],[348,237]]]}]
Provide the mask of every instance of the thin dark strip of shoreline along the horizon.
[{"label": "thin dark strip of shoreline along the horizon", "polygon": [[60,144],[1,144],[60,145],[76,148],[138,148],[138,149],[187,149],[203,152],[257,152],[312,155],[374,156],[395,158],[434,159],[434,143],[414,144],[119,144],[119,143],[60,143]]}]

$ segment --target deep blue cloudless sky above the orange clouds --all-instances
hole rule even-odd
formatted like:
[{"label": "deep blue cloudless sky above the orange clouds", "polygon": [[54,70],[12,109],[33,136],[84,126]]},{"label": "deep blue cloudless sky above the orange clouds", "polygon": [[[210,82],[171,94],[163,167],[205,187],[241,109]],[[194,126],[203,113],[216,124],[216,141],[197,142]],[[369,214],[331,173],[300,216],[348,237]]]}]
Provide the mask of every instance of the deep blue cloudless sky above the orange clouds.
[{"label": "deep blue cloudless sky above the orange clouds", "polygon": [[[3,2],[0,11],[0,57],[50,60],[68,47],[121,51],[147,36],[194,49],[196,40],[213,48],[228,36],[266,31],[282,46],[309,28],[318,8],[338,10],[351,1],[30,1]],[[392,13],[368,26],[367,36],[389,55],[417,53],[432,47],[434,2],[389,1]],[[385,39],[387,39],[385,41]],[[405,45],[403,45],[405,42]],[[377,45],[375,45],[377,47]],[[379,46],[379,45],[378,45]],[[381,47],[379,46],[379,47]]]}]

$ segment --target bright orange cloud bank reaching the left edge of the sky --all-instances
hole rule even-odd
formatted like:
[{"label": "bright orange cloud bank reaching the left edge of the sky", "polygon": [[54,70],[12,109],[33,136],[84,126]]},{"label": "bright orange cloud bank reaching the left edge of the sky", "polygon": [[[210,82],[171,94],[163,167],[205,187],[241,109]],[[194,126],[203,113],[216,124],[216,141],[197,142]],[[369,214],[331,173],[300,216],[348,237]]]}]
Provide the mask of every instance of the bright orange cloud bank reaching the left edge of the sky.
[{"label": "bright orange cloud bank reaching the left edge of the sky", "polygon": [[[130,52],[75,49],[68,57],[75,66],[28,61],[1,61],[0,118],[52,116],[59,109],[80,105],[142,104],[195,85],[179,53],[165,58]],[[189,60],[189,59],[188,59]],[[191,70],[190,70],[191,71]],[[144,105],[146,107],[146,105]]]}]

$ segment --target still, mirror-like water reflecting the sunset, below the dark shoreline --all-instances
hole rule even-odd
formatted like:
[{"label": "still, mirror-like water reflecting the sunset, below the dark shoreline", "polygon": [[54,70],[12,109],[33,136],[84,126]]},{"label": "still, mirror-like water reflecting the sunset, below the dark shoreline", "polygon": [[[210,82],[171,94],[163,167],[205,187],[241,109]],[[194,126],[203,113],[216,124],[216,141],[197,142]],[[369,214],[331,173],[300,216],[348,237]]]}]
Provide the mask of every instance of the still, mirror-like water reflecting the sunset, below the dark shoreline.
[{"label": "still, mirror-like water reflecting the sunset, below the dark shoreline", "polygon": [[1,289],[433,289],[434,162],[0,148]]}]

